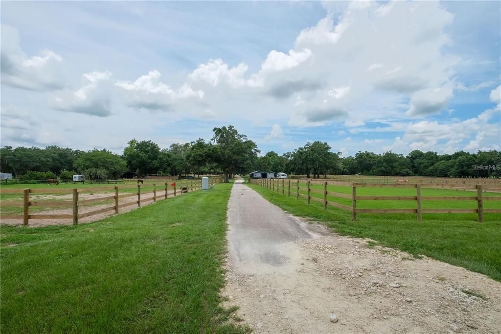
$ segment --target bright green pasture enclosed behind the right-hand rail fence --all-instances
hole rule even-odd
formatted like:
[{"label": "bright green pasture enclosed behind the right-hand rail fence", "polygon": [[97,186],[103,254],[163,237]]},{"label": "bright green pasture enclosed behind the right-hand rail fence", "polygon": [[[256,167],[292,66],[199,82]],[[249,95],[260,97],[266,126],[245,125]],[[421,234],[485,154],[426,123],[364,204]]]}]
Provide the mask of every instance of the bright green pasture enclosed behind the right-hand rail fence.
[{"label": "bright green pasture enclosed behind the right-hand rail fence", "polygon": [[[261,187],[268,188],[274,192],[282,194],[284,192],[285,196],[289,195],[289,181],[291,182],[290,192],[291,197],[298,197],[300,201],[308,201],[308,183],[305,180],[253,180],[255,184],[259,184]],[[340,205],[341,208],[345,210],[352,210],[353,207],[353,188],[351,183],[347,182],[336,182],[327,181],[327,188],[324,189],[324,180],[314,180],[310,182],[310,202],[323,202],[327,200],[329,205]],[[366,186],[372,186],[373,184],[365,184]],[[376,184],[377,186],[377,184]],[[356,187],[357,197],[369,197],[372,199],[357,199],[356,208],[357,210],[364,209],[370,210],[387,210],[387,212],[381,212],[385,216],[390,216],[394,219],[415,219],[416,213],[405,213],[398,212],[391,214],[392,210],[409,210],[416,211],[418,208],[416,188],[412,184],[401,184],[395,185],[380,185],[377,188],[371,187]],[[299,189],[298,189],[299,187]],[[386,188],[388,187],[388,188]],[[460,213],[459,210],[477,210],[477,190],[472,185],[462,185],[461,189],[434,189],[426,187],[440,187],[440,185],[427,184],[423,185],[420,190],[420,196],[422,197],[421,209],[423,210],[422,219],[432,219],[432,220],[448,220],[448,219],[460,219],[460,220],[477,220],[478,213]],[[449,187],[448,185],[445,187]],[[484,186],[490,187],[497,190],[501,189],[501,183],[499,186]],[[467,189],[465,189],[467,188]],[[327,191],[327,196],[324,197],[324,190]],[[384,199],[384,197],[389,197],[391,199]],[[379,199],[383,198],[383,199]],[[501,193],[499,192],[482,192],[482,209],[484,211],[483,220],[501,220]],[[463,200],[464,199],[464,200]],[[427,212],[428,210],[428,212]],[[450,212],[440,212],[448,211]],[[454,210],[458,210],[454,213]],[[432,213],[436,211],[436,213]],[[493,211],[493,212],[490,212]],[[357,215],[357,218],[362,217],[365,213]]]}]

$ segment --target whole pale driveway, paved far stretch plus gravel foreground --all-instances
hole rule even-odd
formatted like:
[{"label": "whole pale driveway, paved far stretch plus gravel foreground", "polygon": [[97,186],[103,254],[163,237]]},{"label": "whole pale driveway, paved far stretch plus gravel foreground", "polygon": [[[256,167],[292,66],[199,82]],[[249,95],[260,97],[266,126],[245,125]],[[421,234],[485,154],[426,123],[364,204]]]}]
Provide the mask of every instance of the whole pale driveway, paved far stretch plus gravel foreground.
[{"label": "whole pale driveway, paved far stretch plus gravel foreground", "polygon": [[501,332],[484,275],[332,234],[236,182],[228,225],[222,294],[256,332]]}]

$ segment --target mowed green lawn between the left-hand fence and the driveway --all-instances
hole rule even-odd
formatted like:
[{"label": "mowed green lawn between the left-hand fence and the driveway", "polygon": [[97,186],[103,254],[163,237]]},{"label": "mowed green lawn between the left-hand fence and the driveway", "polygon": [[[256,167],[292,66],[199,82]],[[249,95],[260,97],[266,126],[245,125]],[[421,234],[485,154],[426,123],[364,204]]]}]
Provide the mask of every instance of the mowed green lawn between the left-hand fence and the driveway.
[{"label": "mowed green lawn between the left-hand fence and the driveway", "polygon": [[73,226],[2,226],[2,332],[241,332],[219,304],[231,185]]}]

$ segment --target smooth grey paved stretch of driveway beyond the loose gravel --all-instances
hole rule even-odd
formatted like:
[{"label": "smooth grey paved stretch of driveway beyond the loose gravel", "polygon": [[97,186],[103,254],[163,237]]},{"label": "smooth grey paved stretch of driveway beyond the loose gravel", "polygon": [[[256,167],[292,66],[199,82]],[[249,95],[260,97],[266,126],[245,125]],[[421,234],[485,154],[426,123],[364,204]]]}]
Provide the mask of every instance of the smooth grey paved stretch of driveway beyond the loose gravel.
[{"label": "smooth grey paved stretch of driveway beyond the loose gravel", "polygon": [[306,224],[235,180],[228,203],[228,250],[246,273],[289,272],[297,267],[294,241],[311,238]]}]

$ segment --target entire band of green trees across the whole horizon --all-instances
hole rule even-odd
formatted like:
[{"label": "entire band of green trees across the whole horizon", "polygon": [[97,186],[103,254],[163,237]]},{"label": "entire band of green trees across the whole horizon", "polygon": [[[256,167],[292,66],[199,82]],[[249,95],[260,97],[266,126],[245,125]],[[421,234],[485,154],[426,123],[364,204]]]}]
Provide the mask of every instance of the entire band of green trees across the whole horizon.
[{"label": "entire band of green trees across the whole horizon", "polygon": [[501,152],[496,150],[438,154],[413,150],[407,155],[391,151],[376,154],[359,151],[342,157],[327,142],[308,142],[282,155],[270,151],[258,156],[256,143],[231,125],[216,127],[209,141],[174,143],[160,148],[151,140],[128,142],[122,154],[107,149],[88,151],[59,146],[0,148],[2,172],[26,180],[59,177],[71,180],[74,174],[86,179],[118,179],[146,175],[187,176],[247,174],[254,170],[285,172],[320,178],[325,175],[380,175],[431,177],[501,177]]}]

